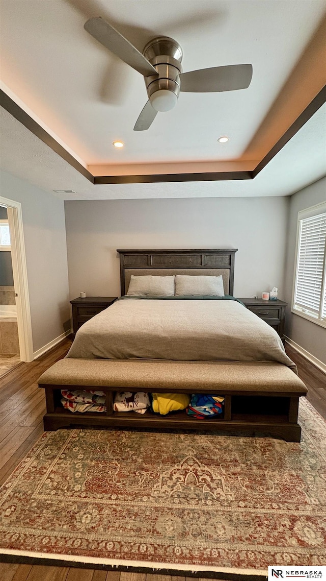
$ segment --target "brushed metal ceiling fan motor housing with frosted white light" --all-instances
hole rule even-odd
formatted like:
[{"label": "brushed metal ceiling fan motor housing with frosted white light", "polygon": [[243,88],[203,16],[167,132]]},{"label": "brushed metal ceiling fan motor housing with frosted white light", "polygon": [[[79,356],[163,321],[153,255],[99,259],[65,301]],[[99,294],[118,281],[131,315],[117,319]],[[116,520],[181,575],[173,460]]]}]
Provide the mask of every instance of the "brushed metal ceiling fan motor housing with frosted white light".
[{"label": "brushed metal ceiling fan motor housing with frosted white light", "polygon": [[158,111],[173,109],[180,94],[182,49],[169,37],[153,38],[143,50],[144,57],[157,70],[157,75],[144,77],[148,99]]}]

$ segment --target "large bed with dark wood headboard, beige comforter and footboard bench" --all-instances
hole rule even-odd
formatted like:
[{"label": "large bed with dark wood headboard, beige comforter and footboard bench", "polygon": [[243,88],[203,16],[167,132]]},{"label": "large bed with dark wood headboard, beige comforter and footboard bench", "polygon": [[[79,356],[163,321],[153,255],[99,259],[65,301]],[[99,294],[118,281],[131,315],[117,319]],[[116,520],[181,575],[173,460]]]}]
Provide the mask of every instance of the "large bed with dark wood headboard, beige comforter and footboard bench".
[{"label": "large bed with dark wood headboard, beige comforter and footboard bench", "polygon": [[[121,299],[86,322],[67,358],[39,379],[46,390],[45,429],[76,424],[236,429],[299,441],[298,403],[306,388],[274,329],[234,299],[237,250],[117,252]],[[168,282],[178,275],[222,276],[226,297],[125,296],[132,277],[169,277]],[[102,388],[105,414],[62,410],[59,388],[67,386]],[[123,390],[218,392],[225,400],[223,414],[198,421],[184,411],[163,418],[150,411],[115,413],[114,394]]]}]

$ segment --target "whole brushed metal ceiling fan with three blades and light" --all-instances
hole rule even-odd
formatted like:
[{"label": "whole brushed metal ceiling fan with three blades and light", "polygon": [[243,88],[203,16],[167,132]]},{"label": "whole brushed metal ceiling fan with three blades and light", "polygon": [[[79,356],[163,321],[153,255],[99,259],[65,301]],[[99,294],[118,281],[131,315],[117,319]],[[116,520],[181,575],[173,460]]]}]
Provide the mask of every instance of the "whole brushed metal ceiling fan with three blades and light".
[{"label": "whole brushed metal ceiling fan with three blades and light", "polygon": [[169,37],[155,37],[143,53],[101,17],[90,18],[85,30],[111,52],[144,76],[148,101],[140,113],[134,131],[144,131],[159,111],[173,109],[180,91],[210,93],[247,89],[251,83],[251,64],[230,64],[210,69],[182,72],[181,46]]}]

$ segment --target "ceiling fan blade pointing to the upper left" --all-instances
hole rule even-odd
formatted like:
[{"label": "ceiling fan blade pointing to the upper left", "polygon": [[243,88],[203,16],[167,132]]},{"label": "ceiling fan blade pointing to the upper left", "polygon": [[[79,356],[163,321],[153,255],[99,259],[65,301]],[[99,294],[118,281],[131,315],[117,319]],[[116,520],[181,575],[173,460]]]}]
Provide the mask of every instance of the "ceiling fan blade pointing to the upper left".
[{"label": "ceiling fan blade pointing to the upper left", "polygon": [[136,47],[131,44],[122,34],[118,33],[111,24],[100,16],[97,18],[90,18],[84,24],[85,30],[92,37],[96,38],[103,46],[117,55],[119,59],[129,64],[133,69],[138,71],[144,77],[151,74],[157,74],[157,70],[148,62],[148,60],[137,51]]}]

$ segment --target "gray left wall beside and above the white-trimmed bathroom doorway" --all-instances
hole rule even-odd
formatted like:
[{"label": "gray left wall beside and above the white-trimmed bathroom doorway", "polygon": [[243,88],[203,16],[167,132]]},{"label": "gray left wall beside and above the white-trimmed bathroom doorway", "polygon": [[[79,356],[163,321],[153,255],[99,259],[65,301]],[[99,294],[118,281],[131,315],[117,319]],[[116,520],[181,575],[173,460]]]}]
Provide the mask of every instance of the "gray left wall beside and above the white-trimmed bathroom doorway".
[{"label": "gray left wall beside and above the white-trimmed bathroom doorway", "polygon": [[4,171],[1,195],[23,211],[34,352],[70,328],[64,204]]}]

